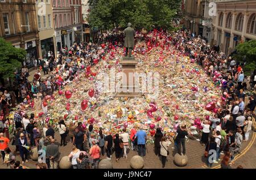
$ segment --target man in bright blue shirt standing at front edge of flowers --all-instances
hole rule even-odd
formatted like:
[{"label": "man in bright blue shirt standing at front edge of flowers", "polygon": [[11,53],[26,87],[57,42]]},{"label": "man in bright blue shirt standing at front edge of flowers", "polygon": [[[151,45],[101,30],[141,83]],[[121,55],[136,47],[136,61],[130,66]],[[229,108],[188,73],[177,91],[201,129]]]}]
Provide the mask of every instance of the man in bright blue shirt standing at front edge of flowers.
[{"label": "man in bright blue shirt standing at front edge of flowers", "polygon": [[143,131],[143,126],[139,127],[139,131],[135,134],[135,138],[138,139],[138,153],[139,156],[146,156],[146,138],[147,134]]}]

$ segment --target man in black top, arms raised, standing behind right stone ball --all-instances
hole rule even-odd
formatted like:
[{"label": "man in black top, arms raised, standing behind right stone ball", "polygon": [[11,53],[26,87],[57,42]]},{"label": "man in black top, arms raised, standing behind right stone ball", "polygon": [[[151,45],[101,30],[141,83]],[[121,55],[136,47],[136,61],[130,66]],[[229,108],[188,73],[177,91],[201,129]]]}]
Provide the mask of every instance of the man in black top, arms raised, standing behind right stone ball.
[{"label": "man in black top, arms raised, standing behind right stone ball", "polygon": [[186,154],[185,149],[185,136],[188,136],[188,132],[186,131],[186,125],[181,125],[180,128],[177,129],[177,136],[176,136],[176,144],[177,144],[177,153],[181,156],[181,144],[182,144],[182,153],[183,155]]}]

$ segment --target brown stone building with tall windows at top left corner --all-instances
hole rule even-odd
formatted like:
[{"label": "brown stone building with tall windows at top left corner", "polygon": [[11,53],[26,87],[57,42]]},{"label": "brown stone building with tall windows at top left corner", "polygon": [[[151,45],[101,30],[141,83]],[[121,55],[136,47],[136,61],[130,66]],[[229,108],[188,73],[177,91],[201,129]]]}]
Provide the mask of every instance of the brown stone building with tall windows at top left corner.
[{"label": "brown stone building with tall windows at top left corner", "polygon": [[34,0],[0,0],[0,36],[27,52],[23,67],[31,68],[39,55],[39,32]]}]

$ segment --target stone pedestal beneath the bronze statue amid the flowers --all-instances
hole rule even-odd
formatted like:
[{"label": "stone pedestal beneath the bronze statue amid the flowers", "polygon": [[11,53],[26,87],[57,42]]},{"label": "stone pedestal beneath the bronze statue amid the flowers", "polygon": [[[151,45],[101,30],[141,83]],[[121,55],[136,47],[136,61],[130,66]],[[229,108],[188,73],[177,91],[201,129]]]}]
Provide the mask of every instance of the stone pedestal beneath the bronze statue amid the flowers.
[{"label": "stone pedestal beneath the bronze statue amid the flowers", "polygon": [[122,85],[117,89],[115,97],[141,97],[139,86],[135,84],[135,68],[138,61],[134,57],[123,57],[120,64],[126,78],[122,79]]}]

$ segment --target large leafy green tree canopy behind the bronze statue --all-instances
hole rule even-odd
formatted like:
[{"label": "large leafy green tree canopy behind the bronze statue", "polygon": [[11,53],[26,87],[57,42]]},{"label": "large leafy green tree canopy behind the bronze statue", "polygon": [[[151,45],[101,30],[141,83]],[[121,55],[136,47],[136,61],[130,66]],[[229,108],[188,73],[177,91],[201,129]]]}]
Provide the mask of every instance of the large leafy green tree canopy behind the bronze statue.
[{"label": "large leafy green tree canopy behind the bronze statue", "polygon": [[125,28],[127,23],[136,29],[172,28],[181,0],[90,0],[89,24],[91,28]]}]

